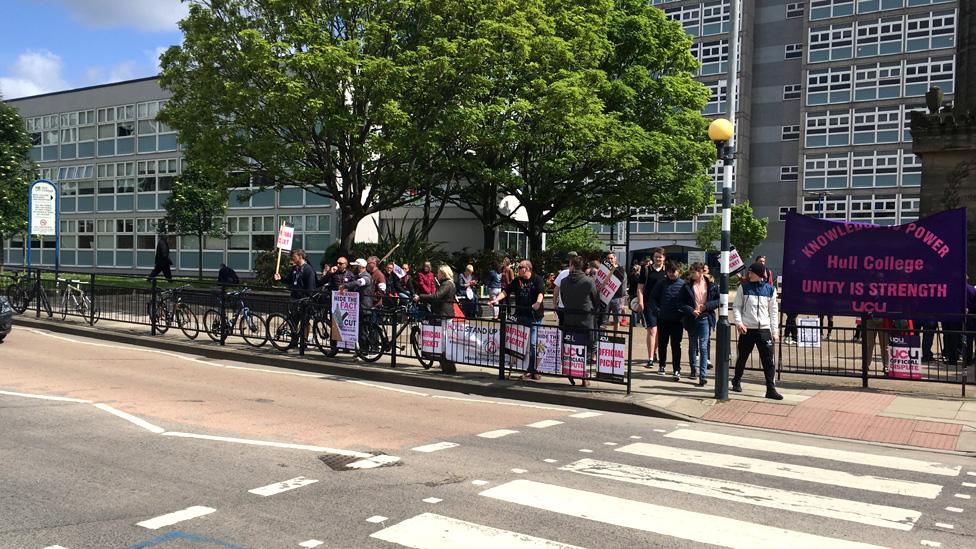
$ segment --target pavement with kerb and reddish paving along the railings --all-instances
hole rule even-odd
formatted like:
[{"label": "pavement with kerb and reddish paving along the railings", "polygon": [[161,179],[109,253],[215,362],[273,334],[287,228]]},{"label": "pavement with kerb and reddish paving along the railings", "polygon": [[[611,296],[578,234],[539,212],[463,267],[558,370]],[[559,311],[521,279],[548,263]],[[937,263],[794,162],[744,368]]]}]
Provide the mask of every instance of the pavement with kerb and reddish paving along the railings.
[{"label": "pavement with kerb and reddish paving along the railings", "polygon": [[[718,402],[713,398],[711,383],[699,388],[689,378],[676,382],[671,376],[658,375],[656,370],[636,364],[628,395],[622,386],[601,382],[591,382],[583,388],[570,387],[565,378],[557,377],[533,382],[518,381],[510,375],[499,380],[497,369],[476,366],[459,365],[457,374],[446,375],[439,373],[436,366],[433,370],[423,370],[406,357],[399,357],[398,367],[390,368],[386,357],[375,364],[366,364],[343,355],[327,359],[314,349],[299,357],[294,351],[282,354],[267,345],[253,349],[237,338],[229,339],[226,346],[219,346],[202,334],[188,341],[176,330],[153,337],[148,334],[148,326],[107,320],[94,328],[72,322],[71,318],[62,322],[20,316],[16,323],[210,358],[413,387],[976,454],[976,399],[958,396],[958,385],[871,380],[872,387],[864,389],[860,378],[788,374],[778,382],[778,390],[785,398],[775,402],[763,398],[765,386],[761,373],[747,370],[744,392],[730,392],[729,401]],[[635,342],[635,347],[643,346]]]}]

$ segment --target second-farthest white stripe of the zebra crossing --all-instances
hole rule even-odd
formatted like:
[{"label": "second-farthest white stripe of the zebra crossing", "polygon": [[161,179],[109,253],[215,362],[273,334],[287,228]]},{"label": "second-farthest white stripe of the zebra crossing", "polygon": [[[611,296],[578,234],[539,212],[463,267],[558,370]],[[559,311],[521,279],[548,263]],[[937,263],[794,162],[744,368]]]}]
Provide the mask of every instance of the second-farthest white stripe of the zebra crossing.
[{"label": "second-farthest white stripe of the zebra crossing", "polygon": [[872,492],[884,492],[887,494],[897,494],[900,496],[935,499],[942,492],[942,487],[937,484],[928,484],[925,482],[914,482],[909,480],[897,480],[870,475],[854,475],[845,471],[820,469],[817,467],[807,467],[804,465],[790,465],[788,463],[778,463],[775,461],[753,459],[730,454],[716,454],[712,452],[686,450],[671,446],[648,444],[646,442],[635,442],[634,444],[629,444],[623,448],[617,448],[615,451],[637,456],[692,463],[701,467],[732,469],[734,471],[744,471],[757,475],[816,482],[819,484],[830,484],[833,486],[843,486],[859,490],[869,490]]}]

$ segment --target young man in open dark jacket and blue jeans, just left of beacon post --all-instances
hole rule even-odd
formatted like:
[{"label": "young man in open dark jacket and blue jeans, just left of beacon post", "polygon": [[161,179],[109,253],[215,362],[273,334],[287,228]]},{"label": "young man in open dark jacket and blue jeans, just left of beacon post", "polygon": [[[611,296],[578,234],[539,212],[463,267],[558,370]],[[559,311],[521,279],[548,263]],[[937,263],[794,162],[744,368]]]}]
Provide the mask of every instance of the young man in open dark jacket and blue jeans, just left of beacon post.
[{"label": "young man in open dark jacket and blue jeans, just left of beacon post", "polygon": [[708,378],[708,346],[715,328],[715,309],[719,306],[718,286],[705,274],[703,263],[692,263],[688,282],[681,292],[681,313],[688,331],[691,377],[703,387]]}]

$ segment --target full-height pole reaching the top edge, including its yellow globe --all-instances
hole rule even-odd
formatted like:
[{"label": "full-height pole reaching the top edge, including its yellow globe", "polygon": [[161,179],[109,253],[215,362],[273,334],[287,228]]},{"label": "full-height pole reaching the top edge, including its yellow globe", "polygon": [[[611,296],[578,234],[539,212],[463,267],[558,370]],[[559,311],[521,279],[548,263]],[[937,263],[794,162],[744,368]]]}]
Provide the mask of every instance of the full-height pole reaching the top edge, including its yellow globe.
[{"label": "full-height pole reaching the top edge, including its yellow globe", "polygon": [[[736,120],[736,80],[739,66],[739,0],[732,0],[729,11],[732,23],[732,35],[729,37],[729,73],[726,85],[728,116],[732,123],[723,121],[726,127],[716,126],[713,132],[709,126],[709,137],[715,141],[718,157],[722,161],[722,255],[719,260],[719,309],[718,326],[715,333],[715,400],[729,399],[729,363],[732,359],[732,329],[729,324],[729,252],[732,249],[732,166],[735,162],[735,134],[733,129]],[[721,125],[719,125],[721,126]]]}]

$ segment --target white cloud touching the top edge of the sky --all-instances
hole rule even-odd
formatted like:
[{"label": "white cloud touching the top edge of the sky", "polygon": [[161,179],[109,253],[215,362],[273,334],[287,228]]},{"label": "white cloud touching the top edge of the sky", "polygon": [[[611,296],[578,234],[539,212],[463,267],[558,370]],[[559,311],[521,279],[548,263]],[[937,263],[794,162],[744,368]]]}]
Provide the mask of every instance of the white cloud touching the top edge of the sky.
[{"label": "white cloud touching the top edge of the sky", "polygon": [[51,0],[79,23],[95,28],[131,27],[141,31],[175,31],[190,12],[180,0]]}]

